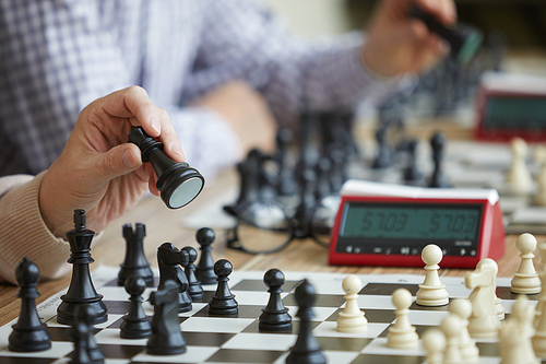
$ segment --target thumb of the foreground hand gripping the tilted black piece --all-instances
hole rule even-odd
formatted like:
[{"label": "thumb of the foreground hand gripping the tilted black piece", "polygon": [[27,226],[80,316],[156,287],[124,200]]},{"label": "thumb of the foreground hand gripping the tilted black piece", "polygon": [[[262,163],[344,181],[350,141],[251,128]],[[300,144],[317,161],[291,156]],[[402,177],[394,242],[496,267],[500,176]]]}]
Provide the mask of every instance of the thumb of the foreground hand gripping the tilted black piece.
[{"label": "thumb of the foreground hand gripping the tilted black piece", "polygon": [[96,169],[105,179],[127,175],[142,165],[140,149],[132,143],[124,143],[102,153],[96,161]]}]

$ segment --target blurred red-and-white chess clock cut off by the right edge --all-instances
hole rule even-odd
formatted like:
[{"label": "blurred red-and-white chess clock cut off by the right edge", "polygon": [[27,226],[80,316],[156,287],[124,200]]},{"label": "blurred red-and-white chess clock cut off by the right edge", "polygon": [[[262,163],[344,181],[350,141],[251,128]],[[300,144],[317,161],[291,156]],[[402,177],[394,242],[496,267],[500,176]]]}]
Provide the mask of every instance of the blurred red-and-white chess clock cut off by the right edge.
[{"label": "blurred red-and-white chess clock cut off by the right edge", "polygon": [[484,141],[546,141],[546,78],[487,72],[475,97],[474,136]]}]

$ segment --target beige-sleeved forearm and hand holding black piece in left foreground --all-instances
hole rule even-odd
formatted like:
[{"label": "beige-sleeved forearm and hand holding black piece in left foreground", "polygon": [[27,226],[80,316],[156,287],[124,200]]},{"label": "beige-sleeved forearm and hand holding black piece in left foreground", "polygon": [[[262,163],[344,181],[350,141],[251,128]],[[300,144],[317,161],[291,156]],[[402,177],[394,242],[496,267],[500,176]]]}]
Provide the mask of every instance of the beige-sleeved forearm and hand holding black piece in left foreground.
[{"label": "beige-sleeved forearm and hand holding black piece in left foreground", "polygon": [[[0,277],[14,282],[14,269],[31,258],[45,279],[67,272],[66,233],[73,228],[73,211],[86,211],[87,227],[99,233],[139,202],[150,189],[158,196],[157,177],[141,152],[127,143],[131,126],[142,126],[159,140],[176,162],[185,156],[165,110],[141,87],[117,91],[85,107],[61,156],[28,183],[9,186],[0,198]],[[17,184],[24,181],[16,180]],[[15,184],[13,184],[15,185]],[[4,187],[2,187],[4,186]]]}]

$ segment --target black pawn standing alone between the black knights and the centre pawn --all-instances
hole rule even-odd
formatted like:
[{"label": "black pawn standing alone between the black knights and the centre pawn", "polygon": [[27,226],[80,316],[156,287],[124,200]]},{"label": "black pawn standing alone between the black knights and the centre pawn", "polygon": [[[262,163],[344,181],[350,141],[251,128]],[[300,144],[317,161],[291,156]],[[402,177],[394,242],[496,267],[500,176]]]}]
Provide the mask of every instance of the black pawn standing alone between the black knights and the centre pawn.
[{"label": "black pawn standing alone between the black knights and the centre pawn", "polygon": [[209,314],[214,316],[233,316],[237,315],[239,309],[235,295],[232,294],[227,278],[233,272],[233,266],[227,259],[219,259],[214,265],[214,273],[218,275],[218,285],[216,292],[212,295],[209,303]]}]

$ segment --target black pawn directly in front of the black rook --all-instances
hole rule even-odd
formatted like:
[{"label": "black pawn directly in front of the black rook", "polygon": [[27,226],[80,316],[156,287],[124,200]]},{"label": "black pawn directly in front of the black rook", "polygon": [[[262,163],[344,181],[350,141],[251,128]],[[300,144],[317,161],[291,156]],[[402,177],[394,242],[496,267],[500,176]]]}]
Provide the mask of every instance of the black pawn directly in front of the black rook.
[{"label": "black pawn directly in front of the black rook", "polygon": [[130,295],[131,306],[123,316],[120,326],[120,337],[123,339],[144,339],[152,334],[152,326],[142,308],[142,294],[146,283],[142,277],[131,275],[126,280],[126,292]]}]

